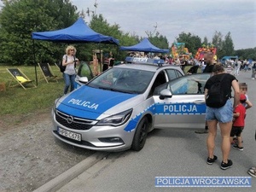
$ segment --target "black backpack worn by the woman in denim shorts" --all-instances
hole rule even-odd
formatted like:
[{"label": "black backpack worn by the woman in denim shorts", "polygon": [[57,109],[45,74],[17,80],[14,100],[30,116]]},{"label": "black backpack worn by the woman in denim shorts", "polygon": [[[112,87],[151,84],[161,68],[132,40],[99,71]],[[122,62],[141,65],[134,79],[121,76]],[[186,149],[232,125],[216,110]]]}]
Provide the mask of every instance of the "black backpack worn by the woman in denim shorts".
[{"label": "black backpack worn by the woman in denim shorts", "polygon": [[215,82],[212,84],[211,88],[208,90],[206,104],[211,108],[221,108],[225,105],[229,96],[225,93],[222,88],[222,80],[226,75],[222,75],[220,79],[216,78]]}]

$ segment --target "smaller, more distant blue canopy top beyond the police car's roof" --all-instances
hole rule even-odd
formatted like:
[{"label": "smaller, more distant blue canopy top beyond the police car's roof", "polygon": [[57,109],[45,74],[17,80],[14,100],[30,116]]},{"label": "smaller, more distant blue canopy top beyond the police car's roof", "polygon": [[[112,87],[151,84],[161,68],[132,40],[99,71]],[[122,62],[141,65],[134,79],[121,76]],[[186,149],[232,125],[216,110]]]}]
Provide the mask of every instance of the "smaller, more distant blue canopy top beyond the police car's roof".
[{"label": "smaller, more distant blue canopy top beyond the police car's roof", "polygon": [[160,49],[151,44],[148,38],[144,38],[139,44],[133,46],[121,46],[121,50],[133,50],[133,51],[141,51],[141,52],[151,52],[151,53],[168,53],[169,49]]}]

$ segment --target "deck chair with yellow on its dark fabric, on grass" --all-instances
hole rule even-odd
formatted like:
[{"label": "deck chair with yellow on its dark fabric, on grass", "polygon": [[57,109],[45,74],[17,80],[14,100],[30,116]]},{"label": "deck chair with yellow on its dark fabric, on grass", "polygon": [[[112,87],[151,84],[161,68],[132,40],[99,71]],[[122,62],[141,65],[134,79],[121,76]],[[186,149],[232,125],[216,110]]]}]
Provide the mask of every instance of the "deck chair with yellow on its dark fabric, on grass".
[{"label": "deck chair with yellow on its dark fabric, on grass", "polygon": [[[20,71],[19,68],[7,68],[7,71],[18,82],[18,84],[13,84],[14,79],[11,79],[11,81],[9,82],[9,87],[15,87],[17,85],[20,85],[24,90],[37,87],[35,84],[32,83],[31,79],[26,77],[26,75]],[[25,86],[26,84],[31,84],[31,86]]]}]

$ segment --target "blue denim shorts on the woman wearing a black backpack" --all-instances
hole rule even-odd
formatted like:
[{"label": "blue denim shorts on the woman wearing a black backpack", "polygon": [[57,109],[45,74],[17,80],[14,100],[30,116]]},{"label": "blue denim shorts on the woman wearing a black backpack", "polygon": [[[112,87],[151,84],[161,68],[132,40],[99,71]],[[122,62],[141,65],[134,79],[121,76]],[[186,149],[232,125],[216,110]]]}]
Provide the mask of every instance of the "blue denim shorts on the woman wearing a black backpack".
[{"label": "blue denim shorts on the woman wearing a black backpack", "polygon": [[233,119],[233,103],[230,99],[221,108],[207,107],[206,120],[218,120],[220,123],[229,123]]}]

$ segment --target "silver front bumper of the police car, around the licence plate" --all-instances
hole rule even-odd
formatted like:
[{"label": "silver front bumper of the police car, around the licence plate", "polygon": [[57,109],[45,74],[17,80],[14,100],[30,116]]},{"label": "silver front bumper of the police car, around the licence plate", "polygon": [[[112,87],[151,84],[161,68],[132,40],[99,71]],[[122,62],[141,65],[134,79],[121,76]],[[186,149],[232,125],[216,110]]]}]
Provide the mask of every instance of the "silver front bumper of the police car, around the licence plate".
[{"label": "silver front bumper of the police car, around the licence plate", "polygon": [[[65,126],[65,124],[60,124],[56,120],[56,115],[54,111],[52,111],[52,117],[52,133],[56,138],[60,139],[62,142],[71,144],[79,148],[87,148],[97,151],[123,151],[131,148],[131,143],[135,131],[125,131],[125,127],[127,124],[129,124],[129,120],[124,125],[120,125],[117,127],[110,125],[91,125],[89,129],[83,130],[68,128],[67,126]],[[80,134],[81,141],[76,141],[72,138],[62,136],[58,132],[59,127],[66,131],[71,131],[73,133]]]}]

